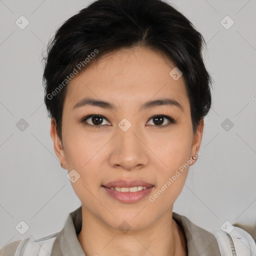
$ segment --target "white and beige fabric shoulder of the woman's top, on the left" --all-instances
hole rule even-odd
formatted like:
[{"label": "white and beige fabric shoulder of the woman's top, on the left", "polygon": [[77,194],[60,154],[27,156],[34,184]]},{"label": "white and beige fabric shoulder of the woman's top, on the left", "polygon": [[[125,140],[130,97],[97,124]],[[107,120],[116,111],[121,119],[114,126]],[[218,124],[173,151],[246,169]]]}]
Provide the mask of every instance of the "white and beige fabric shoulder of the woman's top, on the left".
[{"label": "white and beige fabric shoulder of the woman's top, on the left", "polygon": [[38,255],[39,252],[41,253],[40,255],[50,255],[51,247],[57,234],[58,232],[36,240],[29,236],[13,241],[1,248],[0,256]]}]

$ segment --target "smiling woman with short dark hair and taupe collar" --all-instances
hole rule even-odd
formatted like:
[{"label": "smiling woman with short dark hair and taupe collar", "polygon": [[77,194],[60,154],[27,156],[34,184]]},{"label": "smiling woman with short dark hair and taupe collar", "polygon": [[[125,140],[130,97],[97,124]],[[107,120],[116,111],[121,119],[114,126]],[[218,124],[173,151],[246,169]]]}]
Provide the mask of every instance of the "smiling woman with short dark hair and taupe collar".
[{"label": "smiling woman with short dark hair and taupe collar", "polygon": [[203,42],[160,0],[97,0],[58,28],[45,105],[81,206],[60,232],[15,241],[3,255],[256,253],[241,228],[210,233],[172,212],[211,105]]}]

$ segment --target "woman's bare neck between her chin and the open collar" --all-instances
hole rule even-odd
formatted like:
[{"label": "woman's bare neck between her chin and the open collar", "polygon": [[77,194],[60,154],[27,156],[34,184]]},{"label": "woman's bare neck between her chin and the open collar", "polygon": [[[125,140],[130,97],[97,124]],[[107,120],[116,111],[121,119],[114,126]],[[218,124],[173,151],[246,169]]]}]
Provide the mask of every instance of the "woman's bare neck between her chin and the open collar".
[{"label": "woman's bare neck between her chin and the open collar", "polygon": [[82,208],[82,228],[77,238],[86,256],[185,256],[182,231],[171,215],[172,209],[147,227],[124,233]]}]

